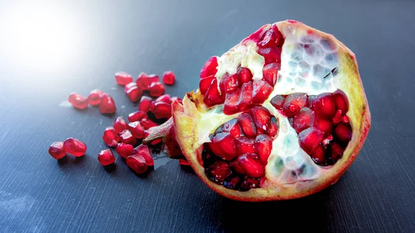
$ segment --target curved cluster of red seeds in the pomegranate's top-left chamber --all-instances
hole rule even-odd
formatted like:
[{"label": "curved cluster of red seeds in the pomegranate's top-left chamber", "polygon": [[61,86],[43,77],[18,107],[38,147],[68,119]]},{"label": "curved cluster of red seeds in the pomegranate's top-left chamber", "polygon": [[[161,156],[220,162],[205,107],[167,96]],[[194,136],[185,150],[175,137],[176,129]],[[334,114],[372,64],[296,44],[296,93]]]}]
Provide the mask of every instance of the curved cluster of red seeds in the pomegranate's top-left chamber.
[{"label": "curved cluster of red seeds in the pomegranate's top-left chamber", "polygon": [[205,97],[203,102],[206,105],[224,103],[223,113],[234,114],[263,103],[273,92],[273,86],[277,82],[277,74],[281,68],[284,37],[277,26],[273,25],[261,39],[256,41],[257,52],[265,59],[262,70],[263,78],[252,81],[252,72],[248,68],[239,66],[236,74],[226,73],[218,83],[215,77],[218,66],[217,57],[211,57],[203,65],[199,83],[201,94]]}]

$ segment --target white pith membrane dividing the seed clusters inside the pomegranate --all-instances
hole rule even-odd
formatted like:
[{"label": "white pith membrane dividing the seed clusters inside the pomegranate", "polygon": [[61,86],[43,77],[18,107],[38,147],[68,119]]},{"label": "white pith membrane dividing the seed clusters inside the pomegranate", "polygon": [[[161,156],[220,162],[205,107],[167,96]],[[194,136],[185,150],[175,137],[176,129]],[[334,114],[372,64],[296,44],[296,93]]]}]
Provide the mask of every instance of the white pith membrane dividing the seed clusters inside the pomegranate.
[{"label": "white pith membrane dividing the seed clusters inside the pomegranate", "polygon": [[[298,181],[312,181],[332,167],[316,165],[311,156],[300,148],[297,132],[288,123],[288,118],[270,104],[270,100],[278,94],[304,92],[308,95],[317,95],[324,92],[332,93],[338,89],[335,85],[337,80],[332,73],[332,70],[339,67],[337,43],[329,37],[322,38],[320,34],[315,34],[311,30],[302,30],[304,28],[298,30],[290,25],[280,28],[278,24],[276,25],[284,35],[285,41],[277,83],[273,92],[262,104],[279,119],[279,131],[273,141],[273,149],[266,165],[267,188]],[[270,27],[265,27],[264,30]],[[236,73],[239,65],[250,69],[253,79],[262,79],[265,59],[256,52],[257,48],[255,41],[244,41],[218,57],[218,71],[215,75],[218,83],[226,72]],[[196,148],[201,147],[203,143],[209,143],[209,135],[220,125],[243,113],[225,115],[222,110],[223,104],[216,105],[201,114],[201,121],[196,130],[199,134],[197,145],[194,145]],[[347,116],[349,117],[349,114]]]}]

